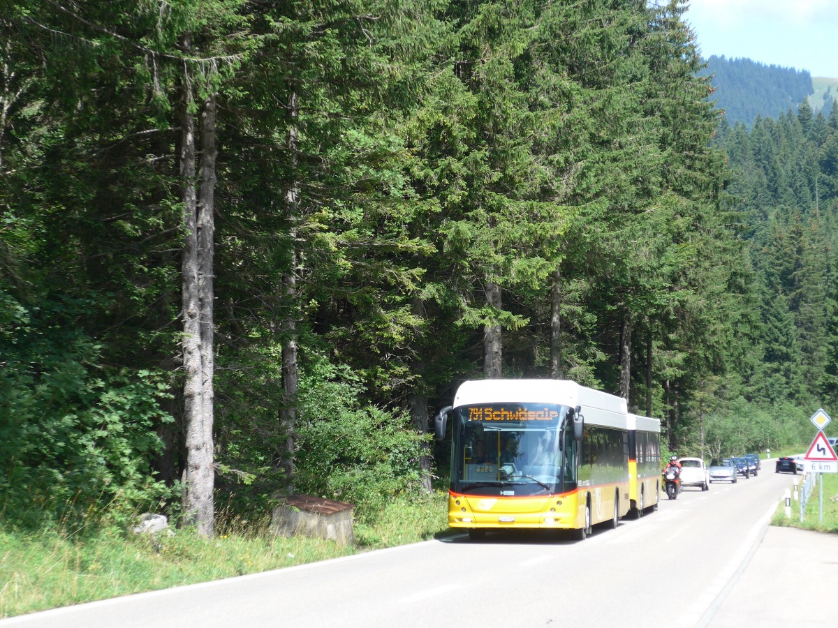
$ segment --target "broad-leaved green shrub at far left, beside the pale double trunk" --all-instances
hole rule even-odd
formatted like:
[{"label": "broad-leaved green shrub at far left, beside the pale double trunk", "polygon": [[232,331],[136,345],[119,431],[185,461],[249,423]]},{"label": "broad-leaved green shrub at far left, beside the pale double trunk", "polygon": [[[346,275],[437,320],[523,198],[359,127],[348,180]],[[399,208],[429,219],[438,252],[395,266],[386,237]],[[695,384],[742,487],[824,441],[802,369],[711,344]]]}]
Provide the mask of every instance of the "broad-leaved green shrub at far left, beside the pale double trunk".
[{"label": "broad-leaved green shrub at far left, beside the pale double trunk", "polygon": [[172,420],[158,404],[168,384],[96,366],[100,347],[60,305],[0,330],[0,507],[21,522],[87,517],[105,505],[131,511],[164,491],[149,461],[160,445],[155,426]]}]

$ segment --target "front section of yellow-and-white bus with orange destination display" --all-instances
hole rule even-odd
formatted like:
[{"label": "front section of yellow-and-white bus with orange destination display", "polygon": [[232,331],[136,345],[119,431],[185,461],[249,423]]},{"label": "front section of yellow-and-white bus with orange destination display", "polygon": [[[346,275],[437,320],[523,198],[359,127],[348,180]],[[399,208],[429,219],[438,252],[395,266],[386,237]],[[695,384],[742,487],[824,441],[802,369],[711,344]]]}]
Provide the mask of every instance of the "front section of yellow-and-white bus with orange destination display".
[{"label": "front section of yellow-and-white bus with orange destination display", "polygon": [[[566,380],[486,379],[464,382],[440,410],[437,440],[449,416],[451,528],[471,538],[551,528],[583,539],[593,524],[616,527],[629,512],[625,399]],[[644,484],[640,494],[648,499],[651,491]]]}]

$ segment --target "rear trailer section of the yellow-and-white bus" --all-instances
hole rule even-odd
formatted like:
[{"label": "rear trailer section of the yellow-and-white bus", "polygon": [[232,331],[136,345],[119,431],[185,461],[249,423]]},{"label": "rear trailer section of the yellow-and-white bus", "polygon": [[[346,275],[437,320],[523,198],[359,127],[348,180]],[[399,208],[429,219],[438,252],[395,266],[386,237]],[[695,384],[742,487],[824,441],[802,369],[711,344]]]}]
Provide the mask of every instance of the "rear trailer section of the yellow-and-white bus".
[{"label": "rear trailer section of the yellow-and-white bus", "polygon": [[660,503],[660,420],[629,414],[629,500],[635,517]]}]

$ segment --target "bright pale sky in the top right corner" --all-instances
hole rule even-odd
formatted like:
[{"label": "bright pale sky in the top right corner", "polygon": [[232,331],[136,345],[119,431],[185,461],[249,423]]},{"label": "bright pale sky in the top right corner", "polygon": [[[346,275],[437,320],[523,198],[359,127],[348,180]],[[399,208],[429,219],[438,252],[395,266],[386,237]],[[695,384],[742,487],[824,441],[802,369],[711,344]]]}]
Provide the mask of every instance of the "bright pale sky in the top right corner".
[{"label": "bright pale sky in the top right corner", "polygon": [[701,55],[747,57],[838,78],[838,0],[691,0]]}]

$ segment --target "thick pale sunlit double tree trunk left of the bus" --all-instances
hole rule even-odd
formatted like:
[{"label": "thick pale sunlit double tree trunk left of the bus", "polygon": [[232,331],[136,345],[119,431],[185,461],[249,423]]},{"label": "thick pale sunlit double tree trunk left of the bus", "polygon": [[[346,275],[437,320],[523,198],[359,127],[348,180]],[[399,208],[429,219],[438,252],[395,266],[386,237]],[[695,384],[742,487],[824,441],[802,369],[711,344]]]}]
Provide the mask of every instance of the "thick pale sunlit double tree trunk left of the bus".
[{"label": "thick pale sunlit double tree trunk left of the bus", "polygon": [[[184,39],[189,49],[189,39]],[[211,142],[210,163],[201,167],[200,203],[195,193],[195,121],[189,112],[192,101],[189,70],[184,75],[184,110],[181,117],[180,177],[184,203],[183,317],[184,317],[184,430],[186,468],[184,469],[184,523],[194,525],[199,534],[212,536],[213,504],[213,413],[212,413],[212,195],[204,195],[204,177],[215,180],[215,137],[203,138],[202,151]],[[206,103],[204,103],[204,106]],[[204,119],[204,116],[208,116]],[[202,116],[204,128],[215,128],[215,109]],[[209,125],[209,126],[208,126]],[[204,171],[207,172],[204,172]],[[209,172],[212,170],[213,172]],[[209,201],[209,206],[207,202]],[[209,214],[209,218],[207,217]],[[200,234],[199,230],[204,229]],[[209,258],[208,258],[209,256]],[[209,291],[206,282],[209,281]],[[209,309],[208,309],[209,308]],[[204,329],[209,327],[209,329]],[[210,342],[209,347],[203,346]],[[207,355],[209,354],[209,362]],[[209,394],[209,399],[205,396]]]}]

